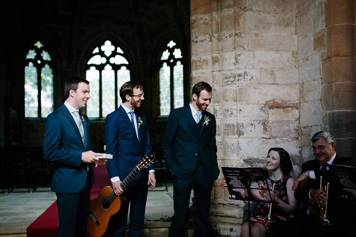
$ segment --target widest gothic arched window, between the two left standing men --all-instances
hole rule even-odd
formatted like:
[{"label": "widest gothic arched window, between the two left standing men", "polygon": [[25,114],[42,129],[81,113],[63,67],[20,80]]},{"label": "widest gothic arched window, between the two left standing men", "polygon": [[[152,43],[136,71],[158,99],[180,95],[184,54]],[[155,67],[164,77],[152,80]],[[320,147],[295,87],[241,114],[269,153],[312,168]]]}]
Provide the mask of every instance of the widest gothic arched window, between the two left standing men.
[{"label": "widest gothic arched window, between the two left standing men", "polygon": [[129,62],[124,52],[105,41],[93,51],[88,61],[86,79],[90,82],[90,99],[87,103],[89,118],[103,118],[121,104],[120,87],[130,81]]}]

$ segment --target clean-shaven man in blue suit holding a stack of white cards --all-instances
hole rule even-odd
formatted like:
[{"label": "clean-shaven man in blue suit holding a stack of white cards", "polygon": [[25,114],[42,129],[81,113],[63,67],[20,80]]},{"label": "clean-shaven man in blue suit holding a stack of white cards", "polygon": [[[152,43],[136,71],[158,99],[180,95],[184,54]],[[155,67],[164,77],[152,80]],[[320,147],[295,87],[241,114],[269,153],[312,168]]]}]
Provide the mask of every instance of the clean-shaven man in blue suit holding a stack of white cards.
[{"label": "clean-shaven man in blue suit holding a stack of white cards", "polygon": [[91,151],[89,119],[79,111],[89,96],[89,81],[70,78],[64,86],[64,104],[49,114],[43,141],[45,159],[54,162],[53,192],[57,194],[58,236],[83,237],[87,231],[93,162],[102,165],[101,153]]}]

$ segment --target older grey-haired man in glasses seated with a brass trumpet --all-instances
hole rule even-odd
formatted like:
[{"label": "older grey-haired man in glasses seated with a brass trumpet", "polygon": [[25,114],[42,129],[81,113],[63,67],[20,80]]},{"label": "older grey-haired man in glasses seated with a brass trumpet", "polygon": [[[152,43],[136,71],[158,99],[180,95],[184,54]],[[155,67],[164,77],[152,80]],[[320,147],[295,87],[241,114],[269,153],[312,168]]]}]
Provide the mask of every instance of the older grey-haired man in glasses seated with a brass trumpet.
[{"label": "older grey-haired man in glasses seated with a brass trumpet", "polygon": [[[302,203],[298,215],[281,224],[280,236],[351,236],[353,217],[356,212],[354,200],[339,195],[336,177],[328,165],[356,166],[352,157],[336,154],[336,141],[327,131],[315,133],[312,137],[311,152],[315,160],[302,164],[302,174],[295,179],[292,189],[295,198]],[[331,225],[320,223],[323,212],[319,205],[326,204],[324,190],[320,193],[320,176],[329,181],[328,220]],[[353,235],[352,235],[353,236]]]}]

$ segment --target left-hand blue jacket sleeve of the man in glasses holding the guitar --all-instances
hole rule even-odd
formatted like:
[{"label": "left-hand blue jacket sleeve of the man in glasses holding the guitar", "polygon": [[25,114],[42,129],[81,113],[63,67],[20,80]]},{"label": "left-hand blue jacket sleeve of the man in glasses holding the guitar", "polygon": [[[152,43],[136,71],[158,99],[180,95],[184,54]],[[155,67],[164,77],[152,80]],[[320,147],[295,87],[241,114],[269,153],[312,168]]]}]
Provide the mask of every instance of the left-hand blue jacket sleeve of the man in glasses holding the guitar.
[{"label": "left-hand blue jacket sleeve of the man in glasses holding the guitar", "polygon": [[117,165],[117,136],[119,135],[119,124],[113,114],[108,114],[105,120],[105,144],[106,153],[112,155],[112,159],[106,162],[108,167],[108,177],[118,177],[119,167]]}]

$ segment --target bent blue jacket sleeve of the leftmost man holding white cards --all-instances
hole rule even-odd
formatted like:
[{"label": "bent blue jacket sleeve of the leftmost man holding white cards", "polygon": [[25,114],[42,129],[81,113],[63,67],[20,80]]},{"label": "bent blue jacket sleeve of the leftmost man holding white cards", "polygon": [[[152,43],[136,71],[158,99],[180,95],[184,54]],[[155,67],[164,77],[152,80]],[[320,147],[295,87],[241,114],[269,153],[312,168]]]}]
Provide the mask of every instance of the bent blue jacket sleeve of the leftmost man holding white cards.
[{"label": "bent blue jacket sleeve of the leftmost man holding white cards", "polygon": [[49,114],[43,132],[43,153],[45,159],[64,165],[80,166],[82,164],[81,151],[61,150],[63,139],[63,125],[57,114]]}]

